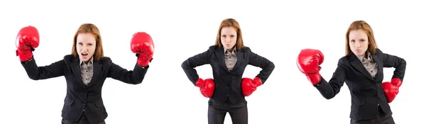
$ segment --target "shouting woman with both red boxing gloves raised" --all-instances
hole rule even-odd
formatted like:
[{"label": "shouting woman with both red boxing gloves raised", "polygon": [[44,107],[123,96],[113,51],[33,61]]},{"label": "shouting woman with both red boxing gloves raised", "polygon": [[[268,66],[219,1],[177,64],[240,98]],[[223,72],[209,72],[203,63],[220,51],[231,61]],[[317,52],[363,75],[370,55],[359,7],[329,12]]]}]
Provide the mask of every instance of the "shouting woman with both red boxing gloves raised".
[{"label": "shouting woman with both red boxing gloves raised", "polygon": [[135,33],[131,50],[138,55],[133,71],[123,69],[104,57],[97,26],[84,23],[74,35],[71,55],[47,66],[38,67],[33,50],[40,42],[37,28],[21,28],[16,38],[16,54],[28,77],[33,80],[65,76],[67,94],[62,108],[62,123],[102,124],[107,118],[102,101],[102,86],[107,77],[127,84],[140,84],[153,56],[153,41],[146,33]]}]

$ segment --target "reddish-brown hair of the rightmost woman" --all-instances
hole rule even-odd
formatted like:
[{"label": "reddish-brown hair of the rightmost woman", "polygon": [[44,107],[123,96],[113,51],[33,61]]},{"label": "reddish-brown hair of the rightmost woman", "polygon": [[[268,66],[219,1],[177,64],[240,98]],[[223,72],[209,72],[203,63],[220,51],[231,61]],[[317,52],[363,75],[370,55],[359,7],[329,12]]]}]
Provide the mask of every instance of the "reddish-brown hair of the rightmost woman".
[{"label": "reddish-brown hair of the rightmost woman", "polygon": [[351,26],[349,26],[348,30],[346,31],[346,56],[351,55],[353,52],[351,51],[351,47],[349,46],[349,33],[352,30],[364,30],[364,33],[368,36],[368,49],[367,51],[371,53],[371,55],[374,55],[376,53],[376,40],[373,35],[373,29],[371,28],[366,21],[354,21],[351,23]]}]

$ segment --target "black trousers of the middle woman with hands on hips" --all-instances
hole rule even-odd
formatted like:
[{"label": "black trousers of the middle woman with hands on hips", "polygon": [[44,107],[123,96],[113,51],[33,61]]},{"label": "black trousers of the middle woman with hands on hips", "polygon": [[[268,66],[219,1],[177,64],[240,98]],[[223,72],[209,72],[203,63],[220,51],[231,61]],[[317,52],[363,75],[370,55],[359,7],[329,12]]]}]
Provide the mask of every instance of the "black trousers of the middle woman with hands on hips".
[{"label": "black trousers of the middle woman with hands on hips", "polygon": [[224,103],[209,100],[208,120],[209,124],[223,124],[226,113],[231,115],[233,124],[248,124],[247,101],[231,103],[229,97]]}]

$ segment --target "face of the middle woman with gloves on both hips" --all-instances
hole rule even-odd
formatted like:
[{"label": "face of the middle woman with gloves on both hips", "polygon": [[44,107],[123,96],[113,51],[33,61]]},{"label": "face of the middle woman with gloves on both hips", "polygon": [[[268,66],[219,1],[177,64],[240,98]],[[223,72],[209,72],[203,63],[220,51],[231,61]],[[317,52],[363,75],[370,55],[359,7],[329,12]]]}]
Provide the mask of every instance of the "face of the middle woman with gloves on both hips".
[{"label": "face of the middle woman with gloves on both hips", "polygon": [[226,50],[232,51],[236,44],[236,30],[234,27],[224,27],[220,30],[220,42]]}]

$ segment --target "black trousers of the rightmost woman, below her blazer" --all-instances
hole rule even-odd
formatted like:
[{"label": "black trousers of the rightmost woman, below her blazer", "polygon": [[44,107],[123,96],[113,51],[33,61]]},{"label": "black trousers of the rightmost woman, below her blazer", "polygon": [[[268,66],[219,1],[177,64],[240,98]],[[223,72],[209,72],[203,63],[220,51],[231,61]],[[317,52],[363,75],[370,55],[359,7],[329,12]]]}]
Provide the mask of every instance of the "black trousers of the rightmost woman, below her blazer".
[{"label": "black trousers of the rightmost woman, below her blazer", "polygon": [[392,115],[383,112],[381,107],[378,107],[376,118],[369,120],[351,120],[351,124],[395,124]]}]

